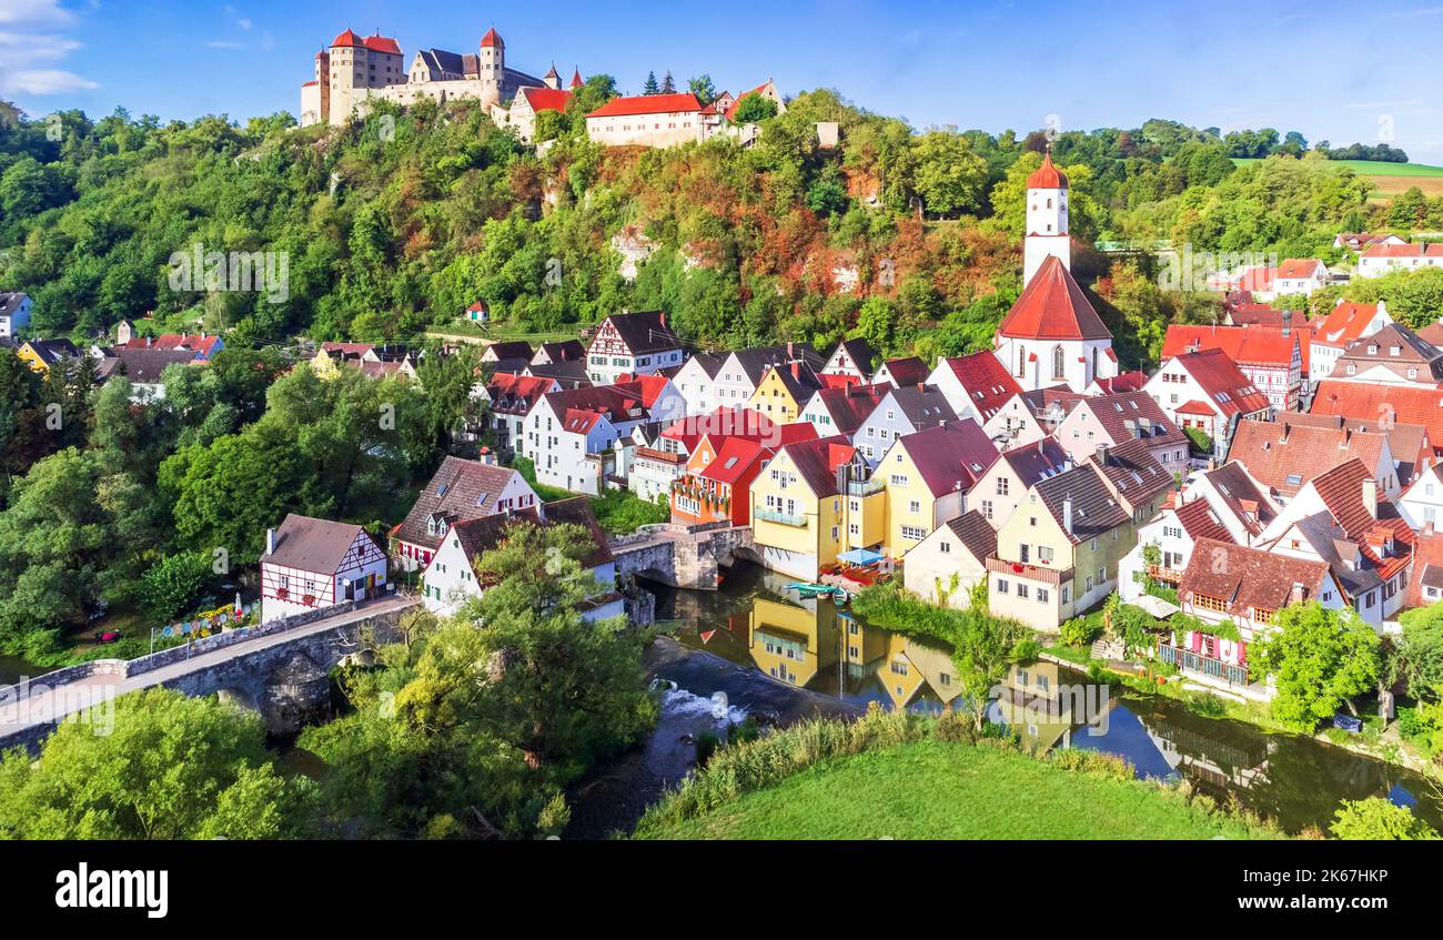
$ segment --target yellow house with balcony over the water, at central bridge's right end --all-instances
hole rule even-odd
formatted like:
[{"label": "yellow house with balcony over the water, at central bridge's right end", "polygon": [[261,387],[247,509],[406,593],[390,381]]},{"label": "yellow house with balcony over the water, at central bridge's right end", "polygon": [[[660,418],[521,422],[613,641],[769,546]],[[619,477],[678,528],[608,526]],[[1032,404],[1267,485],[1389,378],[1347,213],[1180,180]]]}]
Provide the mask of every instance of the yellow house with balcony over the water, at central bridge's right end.
[{"label": "yellow house with balcony over the water, at central bridge's right end", "polygon": [[762,564],[815,581],[823,565],[847,551],[848,503],[838,476],[867,479],[866,461],[844,437],[799,441],[778,451],[752,483],[752,538]]}]

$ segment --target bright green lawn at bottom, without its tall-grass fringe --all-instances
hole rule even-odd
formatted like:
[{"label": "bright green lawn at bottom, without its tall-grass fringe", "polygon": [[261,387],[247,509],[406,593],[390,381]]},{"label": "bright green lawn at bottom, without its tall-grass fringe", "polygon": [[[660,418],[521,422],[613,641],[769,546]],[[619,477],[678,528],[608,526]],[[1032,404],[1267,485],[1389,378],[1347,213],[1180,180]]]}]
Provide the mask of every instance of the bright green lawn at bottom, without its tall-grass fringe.
[{"label": "bright green lawn at bottom, without its tall-grass fringe", "polygon": [[997,747],[925,740],[818,764],[662,839],[1266,838],[1143,781],[1081,774]]}]

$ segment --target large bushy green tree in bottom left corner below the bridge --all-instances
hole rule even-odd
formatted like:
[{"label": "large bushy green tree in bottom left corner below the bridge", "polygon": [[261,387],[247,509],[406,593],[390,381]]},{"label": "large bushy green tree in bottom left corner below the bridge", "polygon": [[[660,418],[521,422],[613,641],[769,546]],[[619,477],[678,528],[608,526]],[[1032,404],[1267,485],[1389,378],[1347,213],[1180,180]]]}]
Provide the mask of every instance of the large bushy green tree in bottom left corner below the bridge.
[{"label": "large bushy green tree in bottom left corner below the bridge", "polygon": [[284,839],[306,833],[313,787],[281,776],[258,715],[166,689],[123,695],[114,727],[68,722],[0,758],[9,839]]}]

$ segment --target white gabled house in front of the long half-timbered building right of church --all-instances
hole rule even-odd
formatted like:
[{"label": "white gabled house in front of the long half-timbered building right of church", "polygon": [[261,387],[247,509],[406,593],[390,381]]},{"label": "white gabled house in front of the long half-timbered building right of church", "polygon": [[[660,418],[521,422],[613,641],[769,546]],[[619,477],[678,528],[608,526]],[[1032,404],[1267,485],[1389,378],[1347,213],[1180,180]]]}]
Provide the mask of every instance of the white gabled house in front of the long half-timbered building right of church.
[{"label": "white gabled house in front of the long half-timbered building right of church", "polygon": [[1228,453],[1238,421],[1267,421],[1271,404],[1221,349],[1182,353],[1163,362],[1146,392],[1179,428],[1198,428],[1216,454]]}]

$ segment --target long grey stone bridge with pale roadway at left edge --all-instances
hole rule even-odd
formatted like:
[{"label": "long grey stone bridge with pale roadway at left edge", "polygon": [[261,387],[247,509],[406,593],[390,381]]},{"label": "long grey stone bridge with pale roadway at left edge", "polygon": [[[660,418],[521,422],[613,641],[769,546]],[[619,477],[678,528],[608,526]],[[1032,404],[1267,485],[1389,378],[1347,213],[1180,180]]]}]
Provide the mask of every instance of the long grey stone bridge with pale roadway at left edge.
[{"label": "long grey stone bridge with pale roadway at left edge", "polygon": [[[38,750],[55,727],[88,712],[114,718],[114,698],[166,688],[186,695],[219,695],[258,711],[267,731],[291,734],[329,714],[329,672],[371,644],[398,639],[401,614],[418,601],[388,595],[287,617],[260,627],[229,630],[186,646],[141,656],[101,659],[0,688],[0,748]],[[97,724],[97,734],[101,727]]]}]

